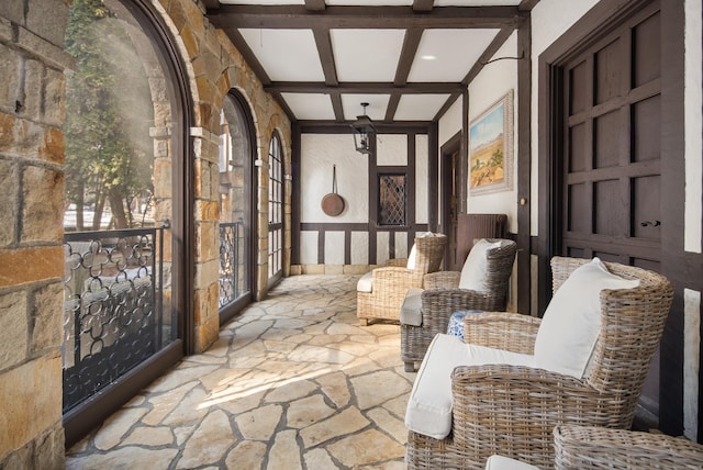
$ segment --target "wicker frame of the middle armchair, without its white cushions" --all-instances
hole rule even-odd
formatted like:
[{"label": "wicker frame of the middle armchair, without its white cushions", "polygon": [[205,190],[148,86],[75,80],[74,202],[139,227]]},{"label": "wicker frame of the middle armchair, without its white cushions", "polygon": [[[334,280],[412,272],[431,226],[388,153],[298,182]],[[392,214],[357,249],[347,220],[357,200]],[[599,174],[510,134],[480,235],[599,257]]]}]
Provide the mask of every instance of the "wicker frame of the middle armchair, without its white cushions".
[{"label": "wicker frame of the middle armchair, without its white cushions", "polygon": [[459,310],[505,311],[510,276],[517,245],[501,240],[502,246],[487,251],[486,286],[483,292],[459,289],[460,272],[438,271],[425,276],[422,293],[422,325],[401,322],[400,355],[405,371],[415,369],[437,333],[447,333],[451,314]]}]

